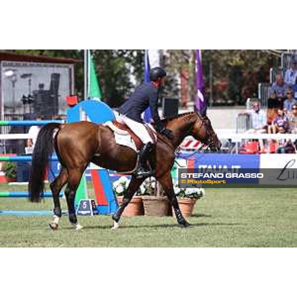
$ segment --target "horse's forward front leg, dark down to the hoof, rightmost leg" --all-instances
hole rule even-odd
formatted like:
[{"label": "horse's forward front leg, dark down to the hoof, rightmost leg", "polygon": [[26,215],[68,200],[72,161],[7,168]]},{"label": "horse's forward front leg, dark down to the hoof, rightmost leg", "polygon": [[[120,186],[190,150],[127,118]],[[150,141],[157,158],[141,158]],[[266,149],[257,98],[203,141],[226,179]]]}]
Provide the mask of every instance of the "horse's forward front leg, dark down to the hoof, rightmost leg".
[{"label": "horse's forward front leg, dark down to the hoof, rightmost leg", "polygon": [[166,173],[161,178],[158,178],[158,181],[162,185],[162,188],[163,188],[167,198],[170,200],[170,202],[172,204],[172,207],[174,209],[174,212],[175,212],[175,215],[177,218],[177,222],[182,227],[185,227],[185,228],[190,227],[191,225],[186,221],[186,219],[184,218],[184,216],[179,208],[178,201],[177,201],[176,195],[174,193],[172,177],[171,177],[170,172]]}]

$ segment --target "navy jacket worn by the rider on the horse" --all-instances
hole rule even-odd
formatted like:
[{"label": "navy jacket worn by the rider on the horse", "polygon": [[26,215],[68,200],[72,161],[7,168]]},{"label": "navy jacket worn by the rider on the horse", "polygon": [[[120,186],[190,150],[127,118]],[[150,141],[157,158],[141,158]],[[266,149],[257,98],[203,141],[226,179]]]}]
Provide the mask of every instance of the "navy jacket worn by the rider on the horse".
[{"label": "navy jacket worn by the rider on the horse", "polygon": [[141,114],[148,106],[157,130],[162,130],[163,125],[158,113],[158,89],[151,82],[145,82],[137,87],[131,97],[118,108],[118,111],[136,122],[143,123]]}]

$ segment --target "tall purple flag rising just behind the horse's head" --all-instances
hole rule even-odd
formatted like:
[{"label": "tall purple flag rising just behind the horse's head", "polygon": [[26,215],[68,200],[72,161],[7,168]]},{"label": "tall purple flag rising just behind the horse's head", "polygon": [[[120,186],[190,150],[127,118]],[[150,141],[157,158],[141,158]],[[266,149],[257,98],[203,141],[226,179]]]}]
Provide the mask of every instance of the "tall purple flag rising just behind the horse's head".
[{"label": "tall purple flag rising just behind the horse's head", "polygon": [[195,98],[195,111],[201,114],[206,113],[206,100],[204,98],[203,86],[203,70],[201,63],[201,49],[196,49],[196,98]]}]

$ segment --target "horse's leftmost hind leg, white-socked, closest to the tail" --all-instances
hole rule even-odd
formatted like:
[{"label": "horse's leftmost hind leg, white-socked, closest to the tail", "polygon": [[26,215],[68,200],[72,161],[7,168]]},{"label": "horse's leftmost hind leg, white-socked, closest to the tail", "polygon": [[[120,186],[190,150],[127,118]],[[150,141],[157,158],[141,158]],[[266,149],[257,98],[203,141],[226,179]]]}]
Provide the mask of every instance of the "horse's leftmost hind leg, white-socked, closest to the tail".
[{"label": "horse's leftmost hind leg, white-socked, closest to the tail", "polygon": [[62,210],[60,206],[60,191],[63,188],[63,186],[66,184],[68,179],[68,173],[66,168],[62,167],[59,175],[55,180],[49,185],[52,198],[53,198],[53,220],[49,223],[49,227],[52,230],[56,230],[58,228],[59,220],[62,216]]}]

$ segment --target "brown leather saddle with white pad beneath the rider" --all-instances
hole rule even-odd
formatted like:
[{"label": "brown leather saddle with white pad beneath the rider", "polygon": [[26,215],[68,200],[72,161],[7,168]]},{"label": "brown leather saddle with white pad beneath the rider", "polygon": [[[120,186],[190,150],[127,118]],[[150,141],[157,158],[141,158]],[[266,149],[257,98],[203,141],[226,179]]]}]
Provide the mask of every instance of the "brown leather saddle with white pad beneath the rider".
[{"label": "brown leather saddle with white pad beneath the rider", "polygon": [[[117,122],[116,120],[109,121],[105,123],[105,126],[109,127],[114,133],[122,135],[122,136],[129,136],[132,138],[137,150],[140,150],[143,147],[143,143],[141,139],[126,125]],[[150,138],[153,140],[153,144],[156,143],[156,134],[155,132],[145,124],[145,127],[148,131]]]}]

